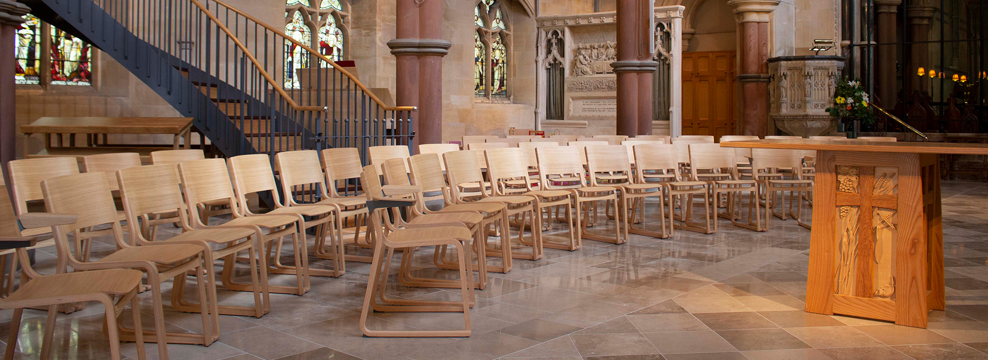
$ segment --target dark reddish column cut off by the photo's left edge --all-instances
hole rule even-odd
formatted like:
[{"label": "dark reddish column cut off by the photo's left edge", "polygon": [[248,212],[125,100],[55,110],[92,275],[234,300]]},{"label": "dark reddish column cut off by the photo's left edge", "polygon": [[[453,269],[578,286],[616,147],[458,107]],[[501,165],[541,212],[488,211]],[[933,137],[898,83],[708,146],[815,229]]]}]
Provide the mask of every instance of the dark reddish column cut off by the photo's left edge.
[{"label": "dark reddish column cut off by the photo's left edge", "polygon": [[[3,165],[4,183],[10,183],[7,162],[17,158],[17,120],[15,118],[14,41],[17,26],[24,23],[24,16],[31,11],[27,5],[13,0],[0,0],[0,163]],[[10,187],[7,188],[8,191]]]}]

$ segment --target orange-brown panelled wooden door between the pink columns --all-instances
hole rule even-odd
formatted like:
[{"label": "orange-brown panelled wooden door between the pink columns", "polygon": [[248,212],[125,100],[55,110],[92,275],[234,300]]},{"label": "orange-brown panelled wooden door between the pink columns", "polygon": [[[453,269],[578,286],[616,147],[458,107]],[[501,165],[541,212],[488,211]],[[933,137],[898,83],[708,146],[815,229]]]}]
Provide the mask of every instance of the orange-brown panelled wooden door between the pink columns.
[{"label": "orange-brown panelled wooden door between the pink columns", "polygon": [[734,51],[683,53],[683,135],[734,134]]}]

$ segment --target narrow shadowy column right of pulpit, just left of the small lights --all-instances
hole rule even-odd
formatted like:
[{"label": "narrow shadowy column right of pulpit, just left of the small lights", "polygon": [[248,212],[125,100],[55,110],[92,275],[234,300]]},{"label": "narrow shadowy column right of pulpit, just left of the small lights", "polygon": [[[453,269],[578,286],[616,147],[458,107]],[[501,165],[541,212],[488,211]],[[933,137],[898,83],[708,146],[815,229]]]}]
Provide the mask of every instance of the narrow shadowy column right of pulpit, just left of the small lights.
[{"label": "narrow shadowy column right of pulpit, just left of the small lights", "polygon": [[[896,10],[902,4],[902,0],[874,0],[875,12],[876,12],[876,40],[878,43],[894,43],[896,41],[895,29],[897,26]],[[879,45],[876,51],[877,57],[877,89],[875,89],[875,95],[878,97],[878,102],[875,104],[881,106],[882,108],[893,108],[895,103],[898,101],[896,99],[895,91],[895,45]],[[907,75],[910,73],[908,70],[905,72]],[[916,71],[912,71],[916,73]],[[874,102],[872,100],[872,102]]]}]

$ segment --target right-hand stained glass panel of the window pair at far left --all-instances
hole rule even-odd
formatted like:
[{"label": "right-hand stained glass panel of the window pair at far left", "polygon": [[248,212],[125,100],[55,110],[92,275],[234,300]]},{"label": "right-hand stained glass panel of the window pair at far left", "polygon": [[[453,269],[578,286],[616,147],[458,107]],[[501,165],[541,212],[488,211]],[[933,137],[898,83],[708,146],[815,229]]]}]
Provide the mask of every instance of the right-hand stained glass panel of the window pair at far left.
[{"label": "right-hand stained glass panel of the window pair at far left", "polygon": [[91,47],[76,36],[51,27],[51,84],[89,86]]}]

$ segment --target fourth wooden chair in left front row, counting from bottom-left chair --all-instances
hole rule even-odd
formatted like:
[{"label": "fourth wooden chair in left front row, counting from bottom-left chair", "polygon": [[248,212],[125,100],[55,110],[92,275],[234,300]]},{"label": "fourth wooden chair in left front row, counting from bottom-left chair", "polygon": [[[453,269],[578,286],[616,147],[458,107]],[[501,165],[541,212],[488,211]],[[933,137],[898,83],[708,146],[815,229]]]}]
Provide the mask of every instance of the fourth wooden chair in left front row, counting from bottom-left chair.
[{"label": "fourth wooden chair in left front row, counting from bottom-left chair", "polygon": [[[186,206],[195,209],[206,201],[223,201],[231,209],[237,207],[237,196],[230,181],[230,175],[226,170],[226,162],[223,159],[205,159],[194,162],[179,164],[179,176],[182,179],[185,190]],[[254,250],[250,252],[248,261],[254,262],[255,255],[259,255],[258,269],[261,283],[261,302],[264,313],[271,311],[272,292],[280,294],[298,294],[298,289],[293,286],[273,286],[268,285],[268,259],[267,250],[269,243],[281,244],[282,238],[291,237],[292,242],[298,241],[300,231],[298,230],[298,218],[294,215],[259,215],[243,216],[240,210],[233,211],[233,218],[221,225],[209,226],[198,212],[190,211],[192,219],[190,223],[193,229],[222,229],[222,228],[243,228],[254,231]],[[253,267],[253,266],[252,266]],[[253,291],[252,286],[229,284],[226,288],[236,291]],[[301,295],[301,294],[298,294]],[[255,293],[255,302],[257,301]]]}]

